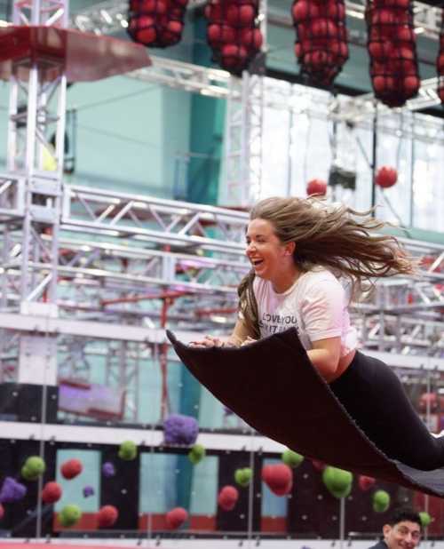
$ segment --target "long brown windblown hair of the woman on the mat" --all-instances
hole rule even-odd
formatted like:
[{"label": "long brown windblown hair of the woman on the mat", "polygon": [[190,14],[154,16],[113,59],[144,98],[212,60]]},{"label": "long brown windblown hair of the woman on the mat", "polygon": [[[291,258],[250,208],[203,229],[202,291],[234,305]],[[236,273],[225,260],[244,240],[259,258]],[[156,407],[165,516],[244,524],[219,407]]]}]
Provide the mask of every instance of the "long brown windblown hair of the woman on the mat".
[{"label": "long brown windblown hair of the woman on the mat", "polygon": [[[250,211],[250,220],[266,219],[281,243],[296,243],[293,259],[301,272],[328,268],[351,282],[356,297],[372,278],[412,275],[415,261],[394,236],[375,235],[387,224],[370,217],[371,211],[353,211],[327,204],[317,197],[266,198]],[[258,306],[253,294],[254,271],[238,287],[240,311],[247,328],[258,337]]]}]

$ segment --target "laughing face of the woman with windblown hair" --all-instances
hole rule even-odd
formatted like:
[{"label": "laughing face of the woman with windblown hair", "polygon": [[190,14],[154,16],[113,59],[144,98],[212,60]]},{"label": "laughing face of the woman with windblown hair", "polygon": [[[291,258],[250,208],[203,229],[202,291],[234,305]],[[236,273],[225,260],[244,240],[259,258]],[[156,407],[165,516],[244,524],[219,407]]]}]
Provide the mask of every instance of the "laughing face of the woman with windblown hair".
[{"label": "laughing face of the woman with windblown hair", "polygon": [[272,223],[260,218],[250,221],[246,240],[245,253],[256,275],[273,281],[277,275],[281,274],[283,260],[291,256],[294,244],[282,244],[274,234]]}]

